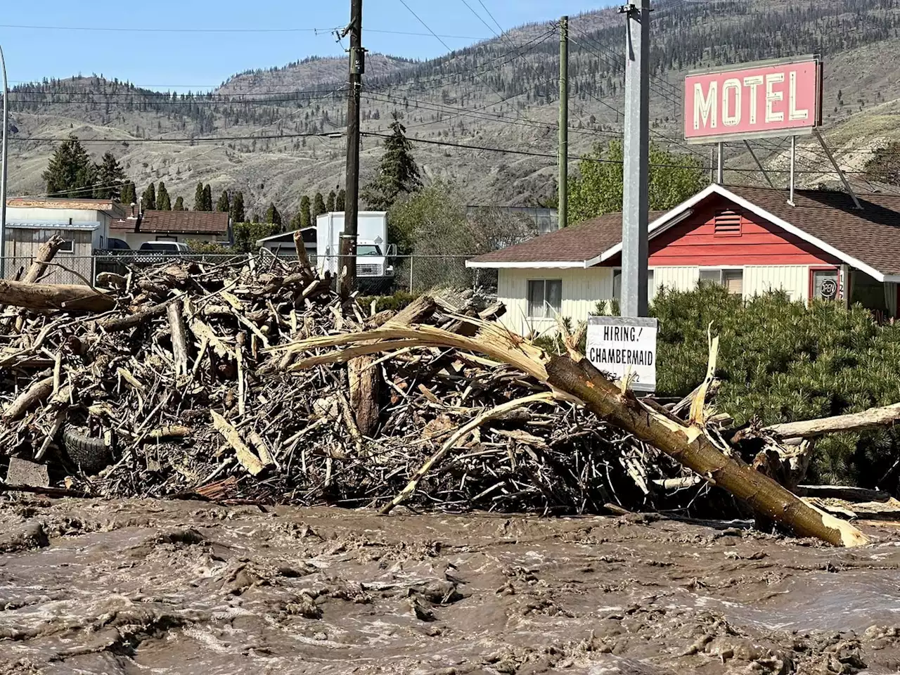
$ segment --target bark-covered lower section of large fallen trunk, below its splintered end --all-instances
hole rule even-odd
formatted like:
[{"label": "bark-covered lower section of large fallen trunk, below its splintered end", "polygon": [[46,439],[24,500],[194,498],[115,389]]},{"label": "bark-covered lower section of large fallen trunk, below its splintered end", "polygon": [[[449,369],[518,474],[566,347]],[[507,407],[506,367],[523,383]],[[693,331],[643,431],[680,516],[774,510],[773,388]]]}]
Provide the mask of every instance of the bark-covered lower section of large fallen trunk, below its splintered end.
[{"label": "bark-covered lower section of large fallen trunk, below its splintered end", "polygon": [[547,382],[584,401],[601,419],[616,424],[638,439],[659,448],[680,464],[706,476],[720,488],[743,500],[754,511],[790,527],[797,536],[815,536],[832,545],[860,546],[869,538],[856,527],[813,509],[768,476],[723,455],[702,429],[684,427],[636,399],[622,396],[587,359],[553,356],[546,365]]}]

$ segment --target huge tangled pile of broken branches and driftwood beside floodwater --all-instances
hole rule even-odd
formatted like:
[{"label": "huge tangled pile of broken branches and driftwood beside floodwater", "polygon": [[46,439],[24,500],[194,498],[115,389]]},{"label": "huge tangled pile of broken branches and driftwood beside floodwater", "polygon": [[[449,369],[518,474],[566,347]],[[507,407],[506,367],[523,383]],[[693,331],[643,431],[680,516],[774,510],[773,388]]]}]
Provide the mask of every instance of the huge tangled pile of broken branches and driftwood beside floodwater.
[{"label": "huge tangled pile of broken branches and driftwood beside floodwater", "polygon": [[410,505],[581,513],[640,508],[653,479],[679,473],[484,356],[399,347],[309,365],[284,349],[386,325],[471,336],[466,317],[503,311],[471,296],[375,312],[302,263],[252,256],[137,266],[98,284],[102,298],[81,287],[77,301],[93,311],[51,310],[46,295],[40,310],[7,309],[2,475],[12,457],[88,494],[345,506],[383,506],[418,475]]}]

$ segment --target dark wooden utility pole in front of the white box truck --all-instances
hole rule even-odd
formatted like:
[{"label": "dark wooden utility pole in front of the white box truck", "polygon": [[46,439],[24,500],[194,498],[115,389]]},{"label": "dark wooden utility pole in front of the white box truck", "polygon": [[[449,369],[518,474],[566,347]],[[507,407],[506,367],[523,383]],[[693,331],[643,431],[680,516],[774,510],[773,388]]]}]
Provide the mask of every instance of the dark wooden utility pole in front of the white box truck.
[{"label": "dark wooden utility pole in front of the white box truck", "polygon": [[347,199],[344,202],[344,233],[340,238],[338,267],[347,268],[341,281],[341,294],[356,287],[356,233],[359,231],[359,96],[363,87],[365,49],[363,49],[363,0],[350,0],[350,95],[347,97]]}]

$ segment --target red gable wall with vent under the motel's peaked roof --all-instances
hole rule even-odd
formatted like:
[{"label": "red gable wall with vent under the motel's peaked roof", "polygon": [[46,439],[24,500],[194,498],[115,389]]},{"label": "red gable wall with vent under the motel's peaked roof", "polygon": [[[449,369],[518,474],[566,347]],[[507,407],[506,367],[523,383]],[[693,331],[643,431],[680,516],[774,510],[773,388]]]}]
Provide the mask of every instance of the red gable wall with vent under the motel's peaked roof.
[{"label": "red gable wall with vent under the motel's peaked roof", "polygon": [[[725,209],[741,212],[739,237],[716,236],[716,213]],[[606,263],[620,264],[619,256]],[[650,240],[650,266],[653,267],[744,265],[840,266],[841,261],[722,198],[716,198]]]}]

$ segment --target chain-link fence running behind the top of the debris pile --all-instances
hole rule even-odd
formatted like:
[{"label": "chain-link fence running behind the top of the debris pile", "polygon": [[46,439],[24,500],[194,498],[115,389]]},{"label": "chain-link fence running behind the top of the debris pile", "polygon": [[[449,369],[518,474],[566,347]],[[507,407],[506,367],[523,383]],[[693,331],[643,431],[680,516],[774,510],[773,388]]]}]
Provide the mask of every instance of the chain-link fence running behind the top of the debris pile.
[{"label": "chain-link fence running behind the top of the debris pile", "polygon": [[[147,253],[140,251],[103,251],[93,256],[72,256],[58,254],[49,263],[47,271],[40,278],[44,284],[85,284],[93,285],[97,275],[112,272],[123,275],[129,267],[158,265],[165,261],[191,261],[203,266],[238,265],[249,256],[265,264],[266,257],[296,260],[293,250],[280,250],[273,254],[264,250],[260,254],[234,253]],[[387,274],[378,277],[357,277],[360,290],[365,293],[391,294],[397,291],[425,293],[443,289],[480,288],[489,292],[497,288],[497,271],[471,269],[465,266],[468,256],[396,256],[387,261]],[[4,277],[17,279],[31,266],[31,257],[6,257]],[[311,256],[313,266],[316,257]]]}]

